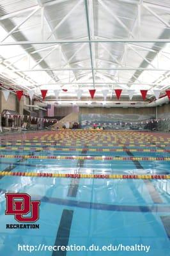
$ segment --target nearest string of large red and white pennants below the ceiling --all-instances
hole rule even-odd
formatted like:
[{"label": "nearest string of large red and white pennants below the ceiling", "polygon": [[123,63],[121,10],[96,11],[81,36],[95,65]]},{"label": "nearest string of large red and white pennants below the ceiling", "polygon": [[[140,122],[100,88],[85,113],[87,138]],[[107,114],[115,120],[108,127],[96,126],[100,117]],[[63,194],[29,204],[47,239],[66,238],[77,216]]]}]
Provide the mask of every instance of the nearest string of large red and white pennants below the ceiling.
[{"label": "nearest string of large red and white pennants below the ceiling", "polygon": [[[97,92],[97,90],[90,89],[88,91],[89,91],[89,95],[91,96],[91,99],[93,99],[95,97],[95,93]],[[114,89],[114,93],[115,93],[116,98],[118,100],[121,98],[122,91],[123,91],[122,89]],[[3,92],[3,95],[4,95],[4,99],[7,101],[8,100],[8,96],[10,94],[10,90],[2,90],[2,92]],[[15,92],[16,92],[17,98],[19,100],[21,99],[22,95],[24,95],[24,91],[23,90],[16,90]],[[48,90],[40,90],[40,92],[42,94],[42,99],[44,100],[45,97],[47,96]],[[58,99],[59,93],[61,93],[61,92],[65,92],[66,93],[66,92],[68,92],[68,90],[66,90],[66,89],[58,89],[58,90],[53,90],[53,92],[54,92],[54,95],[55,95],[56,99]],[[75,93],[77,93],[77,99],[81,100],[83,92],[84,92],[83,90],[75,90]],[[101,92],[103,94],[104,99],[106,99],[107,95],[109,93],[109,90],[102,90]],[[127,92],[128,92],[129,99],[132,100],[132,98],[134,96],[134,93],[135,93],[135,90],[128,90]],[[153,93],[155,95],[155,99],[159,99],[160,92],[161,92],[161,90],[153,90]],[[35,95],[35,90],[28,90],[26,93],[29,96],[29,98],[31,100],[33,100],[33,97]],[[140,90],[140,93],[141,93],[141,97],[143,98],[143,100],[145,100],[146,96],[147,96],[147,93],[148,93],[148,90]],[[166,95],[167,95],[167,97],[170,100],[170,90],[166,90]]]}]

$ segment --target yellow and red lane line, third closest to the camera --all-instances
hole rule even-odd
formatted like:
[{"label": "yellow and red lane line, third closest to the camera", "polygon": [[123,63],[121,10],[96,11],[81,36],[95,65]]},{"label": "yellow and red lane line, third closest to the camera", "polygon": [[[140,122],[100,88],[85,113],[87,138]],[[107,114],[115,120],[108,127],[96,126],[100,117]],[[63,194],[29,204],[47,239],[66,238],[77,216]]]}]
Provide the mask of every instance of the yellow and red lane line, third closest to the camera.
[{"label": "yellow and red lane line, third closest to the camera", "polygon": [[[24,151],[82,151],[82,148],[42,148],[42,147],[0,147],[0,150],[24,150]],[[170,152],[170,149],[143,149],[143,148],[85,148],[89,152]]]}]

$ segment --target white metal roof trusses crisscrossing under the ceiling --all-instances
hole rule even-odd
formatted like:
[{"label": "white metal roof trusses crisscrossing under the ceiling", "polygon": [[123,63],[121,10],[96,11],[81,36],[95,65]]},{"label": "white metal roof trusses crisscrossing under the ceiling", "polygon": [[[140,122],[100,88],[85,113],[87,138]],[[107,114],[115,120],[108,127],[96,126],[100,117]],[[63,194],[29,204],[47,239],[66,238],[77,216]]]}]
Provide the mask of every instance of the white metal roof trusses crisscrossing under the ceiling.
[{"label": "white metal roof trusses crisscrossing under the ceiling", "polygon": [[[165,45],[170,43],[170,38],[143,38],[141,35],[141,8],[143,8],[147,13],[150,13],[150,15],[152,15],[152,17],[154,17],[156,20],[158,20],[158,22],[160,22],[160,24],[162,26],[164,26],[164,29],[169,29],[170,28],[170,24],[169,22],[167,22],[164,18],[161,17],[161,15],[158,15],[157,10],[165,10],[166,12],[169,12],[170,8],[168,8],[167,6],[158,6],[157,4],[150,4],[147,3],[146,1],[139,1],[138,3],[134,0],[118,0],[118,2],[123,2],[123,3],[129,3],[129,4],[133,4],[135,6],[137,6],[137,12],[136,12],[136,17],[134,19],[134,24],[132,26],[132,28],[128,28],[127,24],[118,16],[115,15],[115,13],[112,12],[112,10],[109,9],[109,7],[105,4],[104,1],[102,0],[97,0],[98,4],[100,5],[100,7],[102,7],[106,13],[108,13],[108,15],[110,15],[112,17],[112,19],[114,20],[114,22],[116,22],[116,24],[118,24],[118,26],[120,26],[121,29],[123,29],[123,31],[125,31],[125,33],[127,33],[127,38],[102,38],[100,36],[95,35],[95,26],[94,26],[94,3],[93,0],[77,0],[77,2],[75,3],[75,5],[72,7],[71,10],[69,10],[68,13],[66,13],[65,17],[63,17],[63,19],[61,19],[58,24],[56,24],[56,26],[52,27],[49,19],[48,19],[48,14],[47,14],[47,7],[49,6],[54,6],[55,4],[59,4],[64,2],[65,0],[54,0],[54,1],[49,1],[47,3],[43,3],[41,0],[37,0],[37,4],[33,7],[30,8],[26,8],[25,10],[20,10],[17,12],[13,12],[13,13],[7,13],[4,14],[3,16],[0,17],[0,22],[5,20],[5,19],[12,19],[13,17],[16,17],[17,15],[22,15],[24,13],[29,13],[27,14],[24,19],[22,21],[19,22],[19,24],[17,24],[12,30],[10,30],[7,35],[5,35],[3,37],[3,39],[1,39],[0,42],[0,46],[15,46],[15,45],[36,45],[36,46],[40,46],[40,49],[36,49],[34,51],[29,51],[29,55],[32,56],[32,54],[35,54],[36,52],[43,52],[46,50],[49,50],[49,52],[47,52],[42,58],[40,58],[40,60],[36,61],[36,64],[33,65],[33,67],[28,68],[28,69],[24,69],[24,68],[16,68],[15,64],[17,62],[19,62],[20,60],[22,60],[26,55],[22,55],[19,54],[18,56],[13,56],[11,58],[8,58],[9,63],[6,64],[5,60],[1,60],[0,64],[5,64],[4,69],[2,70],[2,72],[4,72],[6,69],[10,69],[11,72],[17,73],[17,74],[23,74],[23,76],[25,76],[25,73],[27,72],[52,72],[52,76],[50,77],[49,81],[47,81],[47,85],[52,85],[54,83],[59,83],[61,84],[61,86],[63,86],[65,83],[62,83],[62,79],[59,78],[59,75],[62,74],[62,72],[68,71],[68,76],[70,78],[73,78],[72,83],[66,83],[66,84],[77,84],[78,86],[81,86],[81,83],[79,83],[79,77],[81,76],[88,76],[90,77],[90,74],[88,72],[87,74],[81,74],[82,71],[90,71],[91,72],[91,76],[92,76],[92,82],[86,82],[83,84],[90,84],[93,85],[93,88],[95,88],[95,86],[101,86],[102,85],[109,85],[110,83],[108,82],[107,79],[111,80],[112,86],[114,84],[122,84],[122,85],[130,85],[130,84],[145,84],[143,83],[143,81],[139,80],[138,76],[135,76],[135,74],[132,74],[132,77],[134,78],[135,81],[137,81],[138,83],[134,82],[134,83],[130,83],[130,79],[129,81],[127,81],[127,83],[121,83],[120,82],[120,72],[130,72],[130,71],[141,71],[141,72],[151,72],[151,74],[153,74],[153,72],[168,72],[169,68],[161,68],[161,67],[155,67],[155,65],[153,65],[153,63],[151,62],[151,60],[149,60],[149,58],[146,58],[145,56],[143,56],[143,54],[141,54],[141,51],[148,51],[148,52],[154,52],[157,55],[158,54],[162,54],[162,56],[165,56],[167,58],[167,60],[170,59],[170,57],[168,56],[168,53],[166,54],[166,52],[164,51],[156,51],[155,48],[153,47],[155,43]],[[86,28],[87,28],[87,36],[84,38],[75,38],[75,39],[59,39],[58,35],[57,35],[57,31],[59,28],[61,28],[61,25],[65,24],[66,20],[71,17],[71,15],[76,12],[77,8],[79,8],[79,6],[84,3],[84,10],[85,10],[85,16],[86,16]],[[14,32],[18,32],[20,31],[19,28],[25,24],[27,22],[27,20],[31,19],[32,17],[34,17],[34,15],[37,14],[37,12],[41,13],[41,36],[42,39],[38,40],[38,41],[34,41],[34,40],[26,40],[26,41],[15,41],[15,42],[10,42],[9,38],[10,36],[13,35]],[[24,15],[23,15],[24,16]],[[49,28],[50,28],[50,34],[47,38],[45,38],[44,36],[44,21],[46,20]],[[137,26],[137,35],[135,35],[134,32],[134,28]],[[20,31],[21,33],[21,31]],[[8,39],[8,40],[7,40]],[[72,45],[72,44],[79,44],[79,47],[77,47],[77,50],[75,52],[73,52],[72,56],[69,58],[66,57],[65,51],[63,51],[63,45]],[[106,45],[116,45],[116,44],[122,44],[124,47],[124,50],[120,56],[120,58],[116,58],[116,56],[114,56],[112,54],[111,51],[109,51],[109,49],[107,48]],[[147,45],[146,45],[147,44]],[[151,46],[148,46],[148,44],[150,44]],[[43,45],[41,47],[41,45]],[[78,63],[80,64],[81,62],[83,63],[83,61],[88,61],[88,59],[86,60],[82,60],[82,61],[73,61],[73,58],[75,58],[75,56],[77,54],[80,54],[80,52],[83,50],[83,48],[88,45],[89,47],[89,61],[90,61],[90,66],[91,67],[79,67]],[[101,46],[102,49],[104,49],[105,52],[107,52],[107,54],[109,55],[109,60],[104,60],[104,58],[98,58],[97,54],[96,54],[96,49],[97,46]],[[162,46],[163,47],[163,46]],[[61,53],[61,58],[62,60],[64,60],[65,64],[61,65],[61,67],[47,67],[47,68],[36,68],[42,61],[44,61],[47,57],[50,56],[50,54],[52,54],[52,52],[54,52],[56,49],[59,49],[60,53]],[[141,51],[138,51],[140,50]],[[132,51],[134,52],[134,54],[136,54],[138,57],[140,57],[143,61],[145,61],[147,63],[147,67],[146,68],[142,68],[142,67],[128,67],[128,65],[126,65],[126,58],[127,58],[127,52],[128,51]],[[17,60],[14,59],[14,61],[12,60],[12,58],[15,57],[19,57],[17,58]],[[12,61],[12,62],[10,62]],[[73,61],[73,62],[72,62]],[[115,65],[115,67],[101,67],[100,64],[103,61],[103,63],[107,63],[108,65]],[[124,63],[123,63],[124,61]],[[77,67],[75,67],[74,65],[77,65]],[[129,65],[130,66],[130,65]],[[157,65],[156,65],[157,66]],[[53,73],[55,71],[58,71],[57,74]],[[77,71],[80,71],[80,74],[76,74]],[[102,72],[105,71],[105,72]],[[109,74],[109,72],[111,73],[111,71],[116,71],[114,75]],[[101,83],[98,83],[96,80],[96,76],[98,76],[101,78]],[[48,73],[49,74],[49,73]],[[162,75],[162,74],[160,74]],[[57,79],[57,81],[55,80]],[[104,83],[102,83],[102,79],[105,80]],[[15,81],[15,80],[14,80]],[[74,83],[75,81],[75,83]],[[157,83],[155,83],[157,85]],[[35,83],[36,86],[40,86],[38,83]],[[148,85],[150,86],[154,86],[153,83],[148,83]],[[160,85],[160,84],[158,84]],[[113,88],[113,87],[112,87]]]}]

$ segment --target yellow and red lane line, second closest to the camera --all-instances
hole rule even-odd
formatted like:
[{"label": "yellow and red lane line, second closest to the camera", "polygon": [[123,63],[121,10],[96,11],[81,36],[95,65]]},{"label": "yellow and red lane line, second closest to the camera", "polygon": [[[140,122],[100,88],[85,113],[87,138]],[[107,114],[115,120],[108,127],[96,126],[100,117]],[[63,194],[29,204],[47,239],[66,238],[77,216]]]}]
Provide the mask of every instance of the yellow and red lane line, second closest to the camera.
[{"label": "yellow and red lane line, second closest to the camera", "polygon": [[114,161],[170,161],[170,157],[107,157],[107,156],[25,156],[25,155],[0,155],[0,158],[23,159],[69,159],[69,160],[114,160]]}]

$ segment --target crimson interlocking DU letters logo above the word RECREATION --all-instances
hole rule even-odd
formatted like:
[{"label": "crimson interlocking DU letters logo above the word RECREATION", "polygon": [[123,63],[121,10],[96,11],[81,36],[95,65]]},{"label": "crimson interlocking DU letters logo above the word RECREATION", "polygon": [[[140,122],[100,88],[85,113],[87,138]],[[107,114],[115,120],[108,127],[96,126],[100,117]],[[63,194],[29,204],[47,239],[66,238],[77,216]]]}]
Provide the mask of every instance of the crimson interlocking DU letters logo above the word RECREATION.
[{"label": "crimson interlocking DU letters logo above the word RECREATION", "polygon": [[[31,200],[27,193],[6,193],[6,215],[14,215],[19,222],[35,222],[39,220],[39,200]],[[23,216],[27,215],[29,216]]]}]

